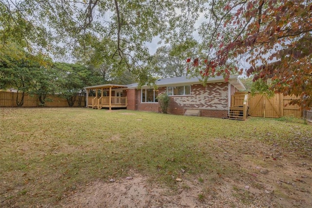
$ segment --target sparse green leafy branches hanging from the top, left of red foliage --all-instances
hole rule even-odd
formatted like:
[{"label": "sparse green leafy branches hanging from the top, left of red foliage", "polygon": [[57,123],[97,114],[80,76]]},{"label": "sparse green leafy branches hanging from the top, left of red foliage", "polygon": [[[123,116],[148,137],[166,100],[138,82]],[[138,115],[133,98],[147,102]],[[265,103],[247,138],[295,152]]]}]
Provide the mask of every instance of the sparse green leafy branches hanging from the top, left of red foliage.
[{"label": "sparse green leafy branches hanging from the top, left of red foliage", "polygon": [[165,42],[174,36],[183,41],[191,37],[192,23],[203,9],[198,2],[2,0],[0,29],[25,40],[33,50],[58,57],[80,48],[87,51],[90,42],[101,37],[116,43],[110,49],[114,64],[126,66],[144,84],[155,81],[146,74],[154,68],[146,42],[156,36]]}]

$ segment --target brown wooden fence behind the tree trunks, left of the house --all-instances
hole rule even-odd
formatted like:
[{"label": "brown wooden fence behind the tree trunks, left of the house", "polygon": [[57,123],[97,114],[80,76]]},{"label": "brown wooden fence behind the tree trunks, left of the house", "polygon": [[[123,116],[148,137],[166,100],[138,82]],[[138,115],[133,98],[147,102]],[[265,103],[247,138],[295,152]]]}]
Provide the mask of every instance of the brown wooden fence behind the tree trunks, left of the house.
[{"label": "brown wooden fence behind the tree trunks, left of the house", "polygon": [[[19,92],[19,98],[21,98],[22,93]],[[17,107],[16,97],[18,96],[17,92],[6,92],[0,91],[0,107]],[[68,103],[65,98],[60,98],[58,96],[48,96],[47,97],[51,102],[46,101],[44,106],[48,107],[66,107]],[[23,107],[38,107],[39,99],[37,95],[24,94],[24,104]],[[78,98],[74,106],[78,105]],[[82,98],[81,106],[85,106],[85,97]]]}]

